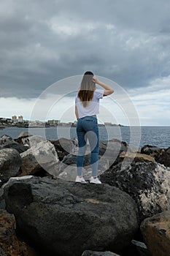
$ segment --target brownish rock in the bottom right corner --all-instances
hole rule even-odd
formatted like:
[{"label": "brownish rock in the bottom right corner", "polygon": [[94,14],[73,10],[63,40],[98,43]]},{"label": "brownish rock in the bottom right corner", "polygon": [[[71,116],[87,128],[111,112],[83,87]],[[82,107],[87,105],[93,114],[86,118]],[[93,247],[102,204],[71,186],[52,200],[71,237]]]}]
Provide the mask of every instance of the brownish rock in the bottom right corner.
[{"label": "brownish rock in the bottom right corner", "polygon": [[170,213],[156,214],[144,219],[141,231],[152,256],[168,256],[170,253]]}]

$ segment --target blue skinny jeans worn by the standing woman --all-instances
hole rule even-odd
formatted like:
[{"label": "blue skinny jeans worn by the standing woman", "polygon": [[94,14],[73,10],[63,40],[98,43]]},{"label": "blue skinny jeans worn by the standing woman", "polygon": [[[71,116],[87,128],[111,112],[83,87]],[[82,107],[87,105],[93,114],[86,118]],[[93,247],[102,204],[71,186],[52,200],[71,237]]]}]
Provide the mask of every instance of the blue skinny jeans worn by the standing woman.
[{"label": "blue skinny jeans worn by the standing woman", "polygon": [[90,144],[90,165],[92,166],[92,176],[98,173],[98,121],[96,116],[85,116],[77,121],[77,138],[79,151],[77,155],[77,176],[82,175],[82,166],[86,151],[86,141]]}]

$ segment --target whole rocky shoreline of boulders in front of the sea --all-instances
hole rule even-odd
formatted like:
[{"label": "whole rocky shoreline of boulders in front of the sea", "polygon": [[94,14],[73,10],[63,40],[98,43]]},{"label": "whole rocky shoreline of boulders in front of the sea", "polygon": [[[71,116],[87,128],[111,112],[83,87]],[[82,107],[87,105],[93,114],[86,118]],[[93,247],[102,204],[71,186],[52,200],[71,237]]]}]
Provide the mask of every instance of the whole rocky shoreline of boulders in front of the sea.
[{"label": "whole rocky shoreline of boulders in front of the sea", "polygon": [[168,256],[170,148],[100,141],[102,184],[74,182],[76,157],[77,140],[1,136],[0,255]]}]

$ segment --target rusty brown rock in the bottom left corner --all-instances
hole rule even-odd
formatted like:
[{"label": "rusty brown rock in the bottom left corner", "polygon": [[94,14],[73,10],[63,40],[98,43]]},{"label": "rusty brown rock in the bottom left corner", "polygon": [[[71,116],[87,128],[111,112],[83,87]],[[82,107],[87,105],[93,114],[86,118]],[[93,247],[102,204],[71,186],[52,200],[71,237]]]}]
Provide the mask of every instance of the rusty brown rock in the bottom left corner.
[{"label": "rusty brown rock in the bottom left corner", "polygon": [[34,249],[18,240],[15,228],[14,215],[0,209],[0,255],[35,256]]}]

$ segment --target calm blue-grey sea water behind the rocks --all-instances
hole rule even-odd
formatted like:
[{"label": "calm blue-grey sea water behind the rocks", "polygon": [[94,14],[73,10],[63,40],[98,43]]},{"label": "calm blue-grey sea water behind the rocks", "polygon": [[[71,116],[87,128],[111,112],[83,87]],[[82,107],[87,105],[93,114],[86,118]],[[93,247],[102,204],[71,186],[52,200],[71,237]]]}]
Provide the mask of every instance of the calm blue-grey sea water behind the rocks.
[{"label": "calm blue-grey sea water behind the rocks", "polygon": [[[18,138],[20,132],[27,131],[26,128],[7,127],[0,129],[0,137],[4,134],[12,138]],[[41,135],[47,139],[58,140],[58,138],[77,138],[74,127],[47,127],[30,128],[32,135]],[[116,138],[126,143],[142,147],[146,144],[168,148],[170,146],[170,127],[99,127],[101,140]]]}]

